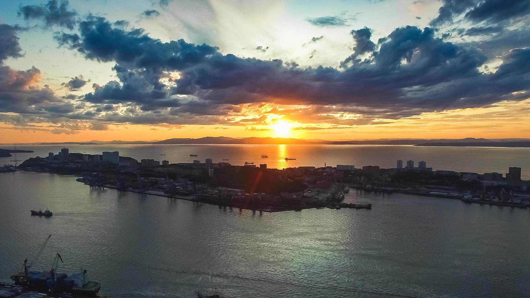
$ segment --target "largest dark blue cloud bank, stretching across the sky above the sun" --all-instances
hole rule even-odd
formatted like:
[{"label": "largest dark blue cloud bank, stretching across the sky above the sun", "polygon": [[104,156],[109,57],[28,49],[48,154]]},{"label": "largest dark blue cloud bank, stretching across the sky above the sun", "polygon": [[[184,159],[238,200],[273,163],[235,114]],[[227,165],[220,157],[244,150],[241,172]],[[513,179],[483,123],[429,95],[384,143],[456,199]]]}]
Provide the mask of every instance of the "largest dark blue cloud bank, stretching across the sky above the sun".
[{"label": "largest dark blue cloud bank, stretching across the sky above the sun", "polygon": [[[183,40],[161,42],[139,29],[115,28],[102,17],[81,22],[80,33],[61,33],[57,40],[87,59],[116,61],[119,77],[119,82],[96,86],[85,100],[132,103],[143,111],[172,107],[183,112],[182,102],[168,99],[176,94],[195,96],[208,105],[349,104],[392,106],[396,113],[407,114],[400,111],[482,106],[528,88],[524,76],[507,68],[511,60],[500,68],[506,69],[502,78],[480,73],[478,67],[487,60],[482,51],[436,38],[431,28],[398,28],[379,44],[370,40],[370,29],[354,30],[355,59],[342,71],[222,55],[215,47]],[[365,54],[365,60],[357,59]],[[180,71],[176,87],[161,83],[166,71]]]}]

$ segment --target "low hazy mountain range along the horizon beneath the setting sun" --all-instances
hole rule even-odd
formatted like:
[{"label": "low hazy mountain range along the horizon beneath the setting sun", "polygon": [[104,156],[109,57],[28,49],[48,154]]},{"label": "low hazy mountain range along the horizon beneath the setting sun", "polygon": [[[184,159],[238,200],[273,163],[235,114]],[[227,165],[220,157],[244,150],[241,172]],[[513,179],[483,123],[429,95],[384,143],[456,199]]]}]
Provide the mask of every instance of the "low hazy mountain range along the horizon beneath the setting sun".
[{"label": "low hazy mountain range along the horizon beneath the setting sun", "polygon": [[379,139],[326,141],[292,138],[228,138],[204,137],[199,139],[174,138],[163,141],[86,141],[32,143],[25,145],[120,145],[120,144],[323,144],[323,145],[414,145],[414,146],[447,146],[447,147],[530,147],[530,139]]}]

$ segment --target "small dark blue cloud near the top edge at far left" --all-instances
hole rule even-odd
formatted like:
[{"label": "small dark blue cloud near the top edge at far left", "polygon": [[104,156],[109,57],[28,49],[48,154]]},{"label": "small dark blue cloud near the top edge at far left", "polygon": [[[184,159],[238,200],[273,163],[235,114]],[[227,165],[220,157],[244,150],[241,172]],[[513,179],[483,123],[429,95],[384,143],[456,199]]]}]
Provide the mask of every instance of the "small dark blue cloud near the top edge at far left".
[{"label": "small dark blue cloud near the top edge at far left", "polygon": [[75,11],[68,11],[68,0],[50,0],[42,5],[26,5],[20,7],[19,16],[24,16],[25,20],[43,19],[47,26],[59,25],[70,30],[74,29]]}]

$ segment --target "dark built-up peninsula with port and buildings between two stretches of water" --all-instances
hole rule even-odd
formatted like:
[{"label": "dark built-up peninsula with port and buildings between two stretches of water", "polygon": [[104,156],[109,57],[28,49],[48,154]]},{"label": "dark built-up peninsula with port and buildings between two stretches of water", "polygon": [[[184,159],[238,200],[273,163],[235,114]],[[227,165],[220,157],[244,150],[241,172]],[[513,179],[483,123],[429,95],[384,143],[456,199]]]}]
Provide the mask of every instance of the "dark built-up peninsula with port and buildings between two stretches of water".
[{"label": "dark built-up peninsula with port and buildings between two stretches of water", "polygon": [[[417,166],[416,166],[417,165]],[[119,156],[118,151],[101,155],[69,153],[25,160],[17,169],[74,174],[93,187],[106,187],[157,196],[258,211],[301,210],[314,207],[367,208],[371,205],[343,204],[350,188],[366,192],[405,193],[457,198],[471,203],[526,208],[530,202],[530,180],[521,179],[521,168],[502,173],[432,170],[426,161],[403,160],[395,168],[367,165],[337,165],[268,168],[267,164],[231,165],[225,161],[178,162]]]}]

